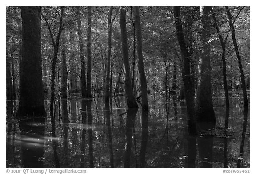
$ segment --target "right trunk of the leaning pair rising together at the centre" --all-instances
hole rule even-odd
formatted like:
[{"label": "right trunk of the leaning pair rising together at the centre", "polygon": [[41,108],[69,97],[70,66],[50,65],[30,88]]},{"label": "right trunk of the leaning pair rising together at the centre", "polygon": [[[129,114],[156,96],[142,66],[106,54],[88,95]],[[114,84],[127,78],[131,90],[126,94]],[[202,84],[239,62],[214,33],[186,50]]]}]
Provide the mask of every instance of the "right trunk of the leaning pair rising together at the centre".
[{"label": "right trunk of the leaning pair rising together at the centre", "polygon": [[137,36],[138,69],[140,73],[142,109],[144,109],[145,111],[148,111],[147,79],[144,71],[144,62],[143,62],[143,54],[142,54],[142,33],[141,33],[139,6],[134,6],[134,16],[135,16],[136,36]]}]

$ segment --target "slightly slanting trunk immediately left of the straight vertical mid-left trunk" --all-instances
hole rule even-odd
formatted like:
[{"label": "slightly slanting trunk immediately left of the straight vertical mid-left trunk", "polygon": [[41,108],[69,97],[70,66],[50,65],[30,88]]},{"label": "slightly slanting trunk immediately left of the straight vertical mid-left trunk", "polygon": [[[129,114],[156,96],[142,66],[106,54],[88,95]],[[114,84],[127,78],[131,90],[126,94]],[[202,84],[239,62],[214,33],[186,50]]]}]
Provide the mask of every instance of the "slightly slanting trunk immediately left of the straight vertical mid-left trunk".
[{"label": "slightly slanting trunk immediately left of the straight vertical mid-left trunk", "polygon": [[78,39],[79,39],[79,54],[81,59],[81,94],[82,98],[86,97],[86,75],[85,75],[85,60],[84,60],[84,43],[82,36],[82,27],[81,27],[81,15],[80,7],[77,7],[77,16],[78,16]]}]

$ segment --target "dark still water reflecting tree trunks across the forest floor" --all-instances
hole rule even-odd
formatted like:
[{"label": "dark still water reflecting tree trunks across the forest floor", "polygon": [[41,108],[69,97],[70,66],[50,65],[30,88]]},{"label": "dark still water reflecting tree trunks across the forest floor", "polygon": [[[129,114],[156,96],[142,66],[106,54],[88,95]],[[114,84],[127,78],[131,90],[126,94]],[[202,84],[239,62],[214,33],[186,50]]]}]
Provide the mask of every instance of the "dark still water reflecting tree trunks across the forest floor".
[{"label": "dark still water reflecting tree trunks across the forest floor", "polygon": [[197,137],[188,136],[186,105],[172,97],[166,102],[158,94],[149,96],[146,113],[127,110],[125,97],[112,98],[109,110],[104,110],[103,97],[86,101],[91,112],[81,112],[80,99],[67,100],[63,112],[56,100],[56,137],[49,101],[47,118],[33,120],[16,120],[17,104],[7,102],[6,167],[249,168],[250,112],[243,122],[241,101],[231,99],[225,132],[225,101],[215,98],[216,124],[199,125],[205,131]]}]

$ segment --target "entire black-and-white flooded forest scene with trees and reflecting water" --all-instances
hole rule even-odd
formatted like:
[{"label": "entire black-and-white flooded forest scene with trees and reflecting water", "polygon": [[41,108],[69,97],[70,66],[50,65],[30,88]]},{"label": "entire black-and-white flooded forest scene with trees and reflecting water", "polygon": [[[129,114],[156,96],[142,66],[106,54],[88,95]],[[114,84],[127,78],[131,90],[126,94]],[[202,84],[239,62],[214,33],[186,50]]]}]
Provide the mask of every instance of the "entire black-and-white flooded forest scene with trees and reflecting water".
[{"label": "entire black-and-white flooded forest scene with trees and reflecting water", "polygon": [[250,168],[250,6],[6,6],[6,168]]}]

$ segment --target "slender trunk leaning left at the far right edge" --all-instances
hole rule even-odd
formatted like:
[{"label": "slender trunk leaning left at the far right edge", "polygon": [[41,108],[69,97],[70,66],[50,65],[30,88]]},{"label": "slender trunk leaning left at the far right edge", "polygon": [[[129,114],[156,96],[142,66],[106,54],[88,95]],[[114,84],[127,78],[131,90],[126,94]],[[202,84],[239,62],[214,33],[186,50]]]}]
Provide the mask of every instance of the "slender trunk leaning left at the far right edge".
[{"label": "slender trunk leaning left at the far right edge", "polygon": [[248,108],[248,99],[247,99],[246,85],[245,85],[245,80],[244,80],[243,66],[242,66],[238,46],[237,46],[237,43],[236,43],[236,35],[235,35],[233,20],[232,20],[232,16],[231,16],[231,13],[229,11],[228,6],[225,6],[225,8],[226,8],[227,15],[228,15],[229,26],[230,26],[231,32],[232,32],[232,40],[233,40],[233,44],[234,44],[234,47],[235,47],[236,57],[237,57],[237,60],[238,60],[238,66],[239,66],[239,70],[240,70],[240,74],[241,74],[241,82],[242,82],[243,97],[244,97],[244,108]]}]

